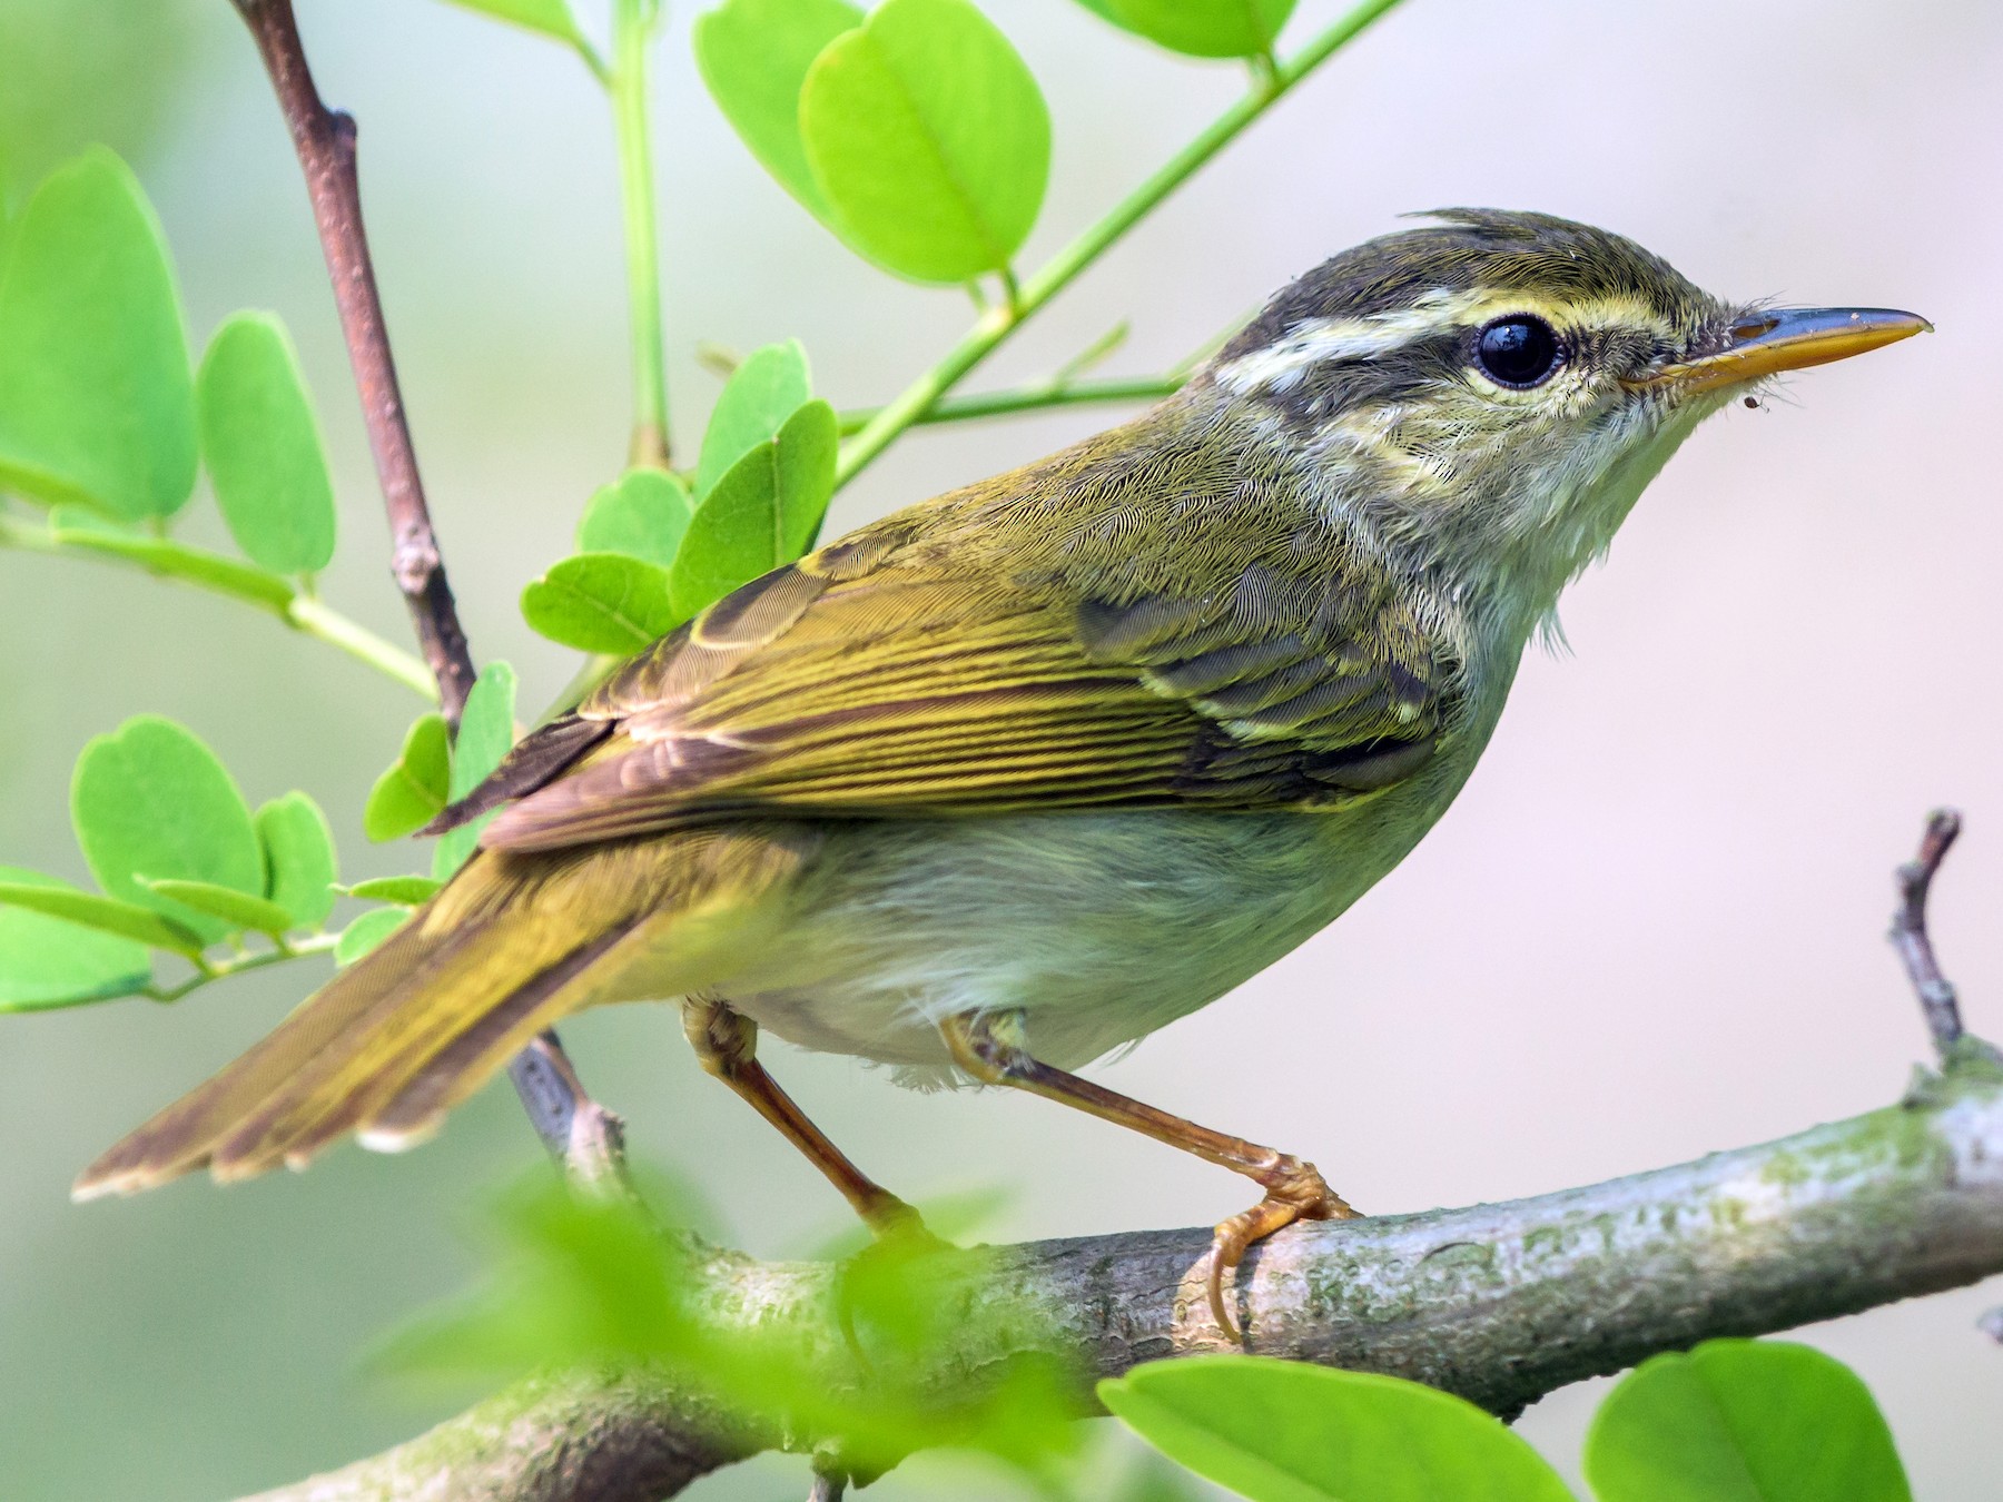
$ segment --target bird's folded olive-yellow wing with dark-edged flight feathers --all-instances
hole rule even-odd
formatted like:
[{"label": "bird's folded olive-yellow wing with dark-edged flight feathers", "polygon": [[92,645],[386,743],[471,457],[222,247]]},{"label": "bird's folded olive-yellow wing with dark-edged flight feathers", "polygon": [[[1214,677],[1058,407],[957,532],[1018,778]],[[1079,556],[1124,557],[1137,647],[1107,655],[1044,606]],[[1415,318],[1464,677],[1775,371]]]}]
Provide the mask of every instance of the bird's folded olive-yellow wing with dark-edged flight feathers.
[{"label": "bird's folded olive-yellow wing with dark-edged flight feathers", "polygon": [[903,513],[713,605],[465,807],[525,791],[483,843],[557,849],[743,813],[1368,797],[1436,749],[1452,655],[1380,569],[1258,501],[1192,505],[1180,537],[1118,497],[1018,515],[1006,559],[991,505]]}]

